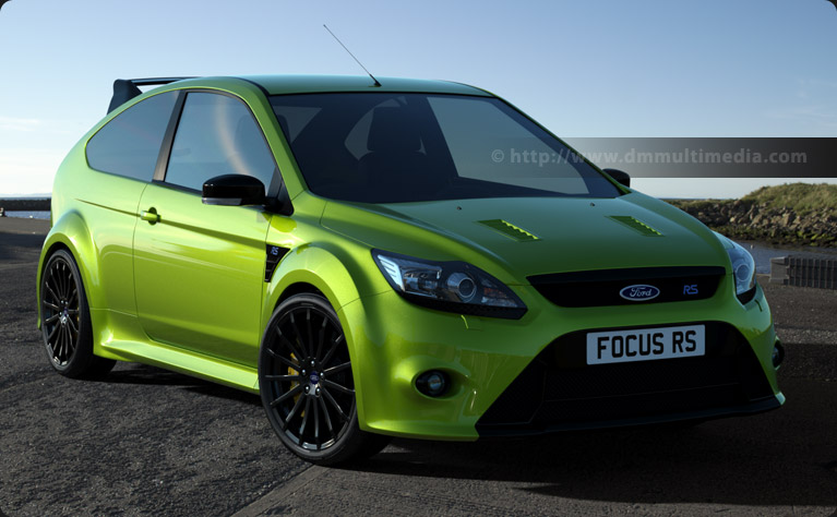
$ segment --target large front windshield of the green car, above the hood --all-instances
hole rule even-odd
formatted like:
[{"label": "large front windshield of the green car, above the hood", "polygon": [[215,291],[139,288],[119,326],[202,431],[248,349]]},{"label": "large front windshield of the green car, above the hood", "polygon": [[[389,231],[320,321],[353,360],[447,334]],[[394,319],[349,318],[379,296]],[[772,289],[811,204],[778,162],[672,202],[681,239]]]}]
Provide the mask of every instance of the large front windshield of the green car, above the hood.
[{"label": "large front windshield of the green car, above the hood", "polygon": [[498,98],[346,93],[271,103],[308,188],[323,197],[619,195],[583,158]]}]

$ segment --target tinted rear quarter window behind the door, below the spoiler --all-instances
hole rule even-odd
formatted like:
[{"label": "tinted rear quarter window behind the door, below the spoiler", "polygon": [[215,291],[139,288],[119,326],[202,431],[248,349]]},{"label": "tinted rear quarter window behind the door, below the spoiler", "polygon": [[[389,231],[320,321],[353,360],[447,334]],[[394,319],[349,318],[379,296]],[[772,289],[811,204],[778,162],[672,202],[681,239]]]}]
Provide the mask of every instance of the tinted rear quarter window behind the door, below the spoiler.
[{"label": "tinted rear quarter window behind the door, below the spoiler", "polygon": [[151,181],[166,135],[176,92],[131,106],[87,142],[87,164],[96,170]]}]

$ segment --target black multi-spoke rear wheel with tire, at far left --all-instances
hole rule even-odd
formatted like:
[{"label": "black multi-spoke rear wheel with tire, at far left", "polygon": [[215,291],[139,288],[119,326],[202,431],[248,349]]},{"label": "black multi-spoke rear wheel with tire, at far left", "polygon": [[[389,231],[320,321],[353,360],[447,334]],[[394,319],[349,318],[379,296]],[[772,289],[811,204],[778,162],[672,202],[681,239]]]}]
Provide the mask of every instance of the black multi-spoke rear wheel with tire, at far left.
[{"label": "black multi-spoke rear wheel with tire, at far left", "polygon": [[40,329],[49,364],[67,377],[107,375],[116,361],[93,354],[93,327],[84,282],[73,256],[58,250],[40,279]]}]

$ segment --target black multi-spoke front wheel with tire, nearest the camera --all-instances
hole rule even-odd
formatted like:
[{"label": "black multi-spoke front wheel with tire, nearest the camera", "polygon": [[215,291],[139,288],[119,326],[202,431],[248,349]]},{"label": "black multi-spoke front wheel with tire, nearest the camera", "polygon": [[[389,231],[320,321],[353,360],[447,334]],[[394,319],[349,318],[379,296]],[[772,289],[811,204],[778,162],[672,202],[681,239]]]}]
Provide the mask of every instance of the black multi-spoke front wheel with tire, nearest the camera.
[{"label": "black multi-spoke front wheel with tire, nearest the camera", "polygon": [[279,440],[312,464],[363,459],[390,441],[358,428],[346,338],[322,296],[295,294],[276,308],[259,352],[259,389]]}]

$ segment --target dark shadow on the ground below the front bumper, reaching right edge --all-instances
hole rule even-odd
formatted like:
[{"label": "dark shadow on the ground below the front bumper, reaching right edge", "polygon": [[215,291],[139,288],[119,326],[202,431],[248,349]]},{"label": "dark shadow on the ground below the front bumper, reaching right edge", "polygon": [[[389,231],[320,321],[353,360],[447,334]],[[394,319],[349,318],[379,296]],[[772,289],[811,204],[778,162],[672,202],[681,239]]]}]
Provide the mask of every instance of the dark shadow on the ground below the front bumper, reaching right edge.
[{"label": "dark shadow on the ground below the front bumper, reaching right edge", "polygon": [[749,418],[440,443],[396,440],[356,470],[493,480],[629,503],[837,506],[837,383],[786,381],[786,407]]}]

